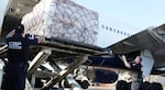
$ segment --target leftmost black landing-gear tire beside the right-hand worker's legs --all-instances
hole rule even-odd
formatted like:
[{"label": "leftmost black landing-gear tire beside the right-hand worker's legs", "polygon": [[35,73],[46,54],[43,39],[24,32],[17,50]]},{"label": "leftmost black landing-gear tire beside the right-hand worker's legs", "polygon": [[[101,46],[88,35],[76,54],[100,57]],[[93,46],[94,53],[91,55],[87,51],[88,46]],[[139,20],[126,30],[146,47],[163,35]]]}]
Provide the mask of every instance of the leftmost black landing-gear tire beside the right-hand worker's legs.
[{"label": "leftmost black landing-gear tire beside the right-hand worker's legs", "polygon": [[128,86],[127,81],[124,81],[124,80],[118,81],[116,90],[128,90],[128,89],[129,89],[129,86]]}]

